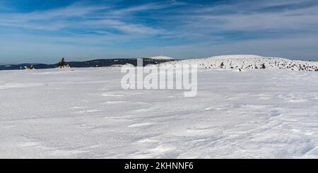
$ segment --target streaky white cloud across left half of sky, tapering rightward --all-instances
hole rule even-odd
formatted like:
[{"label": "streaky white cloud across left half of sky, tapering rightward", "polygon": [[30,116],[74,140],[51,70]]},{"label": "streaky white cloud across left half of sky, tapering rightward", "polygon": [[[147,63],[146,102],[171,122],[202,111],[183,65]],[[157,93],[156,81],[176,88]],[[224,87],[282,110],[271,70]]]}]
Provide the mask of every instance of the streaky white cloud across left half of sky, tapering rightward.
[{"label": "streaky white cloud across left half of sky, tapering rightward", "polygon": [[[154,6],[154,4],[151,6]],[[148,7],[145,6],[143,8]],[[153,35],[162,31],[142,24],[121,21],[120,19],[124,19],[124,17],[117,20],[107,19],[110,18],[108,17],[109,12],[105,10],[109,9],[110,7],[108,6],[83,6],[83,4],[73,4],[65,8],[57,8],[49,11],[6,13],[0,14],[0,25],[49,31],[57,31],[64,28],[87,28],[88,30],[112,28],[121,32],[141,35]],[[141,10],[141,6],[126,10],[134,11],[137,9]],[[105,12],[100,13],[100,11]],[[76,20],[70,20],[74,18]]]}]

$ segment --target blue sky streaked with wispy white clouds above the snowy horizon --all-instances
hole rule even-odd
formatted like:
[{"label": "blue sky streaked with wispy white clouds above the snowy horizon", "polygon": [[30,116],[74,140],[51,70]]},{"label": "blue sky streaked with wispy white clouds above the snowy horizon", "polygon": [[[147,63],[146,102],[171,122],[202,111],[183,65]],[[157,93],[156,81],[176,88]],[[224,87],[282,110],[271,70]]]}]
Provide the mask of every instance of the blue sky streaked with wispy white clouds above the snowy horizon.
[{"label": "blue sky streaked with wispy white clouds above the snowy horizon", "polygon": [[0,64],[160,54],[318,60],[318,1],[0,0]]}]

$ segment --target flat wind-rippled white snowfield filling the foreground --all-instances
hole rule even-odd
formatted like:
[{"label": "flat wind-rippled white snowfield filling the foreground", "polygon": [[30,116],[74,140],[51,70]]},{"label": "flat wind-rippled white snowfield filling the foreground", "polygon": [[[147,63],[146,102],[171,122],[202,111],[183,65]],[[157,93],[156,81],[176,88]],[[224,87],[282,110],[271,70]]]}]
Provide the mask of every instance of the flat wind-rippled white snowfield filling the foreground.
[{"label": "flat wind-rippled white snowfield filling the foreground", "polygon": [[0,157],[318,158],[317,74],[199,68],[184,97],[116,67],[0,71]]}]

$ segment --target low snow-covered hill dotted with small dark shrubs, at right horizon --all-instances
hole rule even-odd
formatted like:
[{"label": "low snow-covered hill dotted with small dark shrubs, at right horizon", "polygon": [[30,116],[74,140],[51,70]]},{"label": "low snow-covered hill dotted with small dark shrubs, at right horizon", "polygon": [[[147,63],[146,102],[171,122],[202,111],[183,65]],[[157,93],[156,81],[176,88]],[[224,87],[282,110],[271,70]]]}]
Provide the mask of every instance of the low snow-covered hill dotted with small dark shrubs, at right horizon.
[{"label": "low snow-covered hill dotted with small dark shrubs, at right horizon", "polygon": [[[278,57],[263,57],[257,55],[224,55],[212,56],[206,59],[185,59],[170,61],[166,64],[196,64],[202,68],[235,68],[259,69],[276,68],[290,71],[318,71],[318,61],[298,61]],[[165,64],[163,64],[165,66]]]}]

